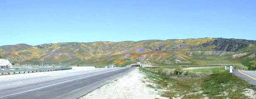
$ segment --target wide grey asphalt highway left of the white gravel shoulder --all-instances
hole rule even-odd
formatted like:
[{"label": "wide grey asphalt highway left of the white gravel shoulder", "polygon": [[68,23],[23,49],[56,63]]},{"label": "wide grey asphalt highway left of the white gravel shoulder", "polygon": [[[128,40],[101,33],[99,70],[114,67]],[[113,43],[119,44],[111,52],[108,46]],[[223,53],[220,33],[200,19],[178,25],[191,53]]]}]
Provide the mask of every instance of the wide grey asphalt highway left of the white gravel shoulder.
[{"label": "wide grey asphalt highway left of the white gravel shoulder", "polygon": [[100,68],[10,75],[10,78],[0,78],[0,99],[77,99],[134,69]]}]

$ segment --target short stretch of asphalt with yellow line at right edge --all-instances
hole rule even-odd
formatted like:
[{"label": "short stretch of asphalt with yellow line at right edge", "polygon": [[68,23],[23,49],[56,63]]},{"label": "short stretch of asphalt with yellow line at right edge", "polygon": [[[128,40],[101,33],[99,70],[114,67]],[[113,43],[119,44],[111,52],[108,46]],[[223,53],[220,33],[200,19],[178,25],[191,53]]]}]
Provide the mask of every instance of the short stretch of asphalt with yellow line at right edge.
[{"label": "short stretch of asphalt with yellow line at right edge", "polygon": [[256,71],[244,71],[244,70],[235,70],[233,74],[246,80],[252,86],[256,87]]}]

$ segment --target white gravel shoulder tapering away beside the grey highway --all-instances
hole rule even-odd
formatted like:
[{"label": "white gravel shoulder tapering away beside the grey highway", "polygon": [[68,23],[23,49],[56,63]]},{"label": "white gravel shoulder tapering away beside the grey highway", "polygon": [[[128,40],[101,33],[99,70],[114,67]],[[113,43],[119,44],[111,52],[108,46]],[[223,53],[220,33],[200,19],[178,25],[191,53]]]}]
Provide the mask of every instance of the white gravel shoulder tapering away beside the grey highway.
[{"label": "white gravel shoulder tapering away beside the grey highway", "polygon": [[145,75],[136,68],[118,80],[108,81],[106,85],[86,94],[80,99],[168,99],[161,97],[153,88],[146,87]]}]

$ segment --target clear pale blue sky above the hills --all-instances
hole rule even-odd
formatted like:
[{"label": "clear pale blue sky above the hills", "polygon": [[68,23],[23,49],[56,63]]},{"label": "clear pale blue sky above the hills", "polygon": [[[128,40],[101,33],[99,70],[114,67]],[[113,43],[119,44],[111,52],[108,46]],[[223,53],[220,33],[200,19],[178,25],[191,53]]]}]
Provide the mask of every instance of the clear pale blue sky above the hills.
[{"label": "clear pale blue sky above the hills", "polygon": [[0,0],[0,45],[256,40],[256,0]]}]

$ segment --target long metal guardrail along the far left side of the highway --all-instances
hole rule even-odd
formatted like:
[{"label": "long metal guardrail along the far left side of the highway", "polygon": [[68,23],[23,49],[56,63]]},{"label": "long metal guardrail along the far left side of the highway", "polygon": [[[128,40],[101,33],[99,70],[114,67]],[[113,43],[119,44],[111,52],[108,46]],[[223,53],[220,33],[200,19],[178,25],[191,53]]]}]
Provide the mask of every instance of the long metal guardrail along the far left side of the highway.
[{"label": "long metal guardrail along the far left side of the highway", "polygon": [[0,73],[30,73],[37,71],[59,71],[72,69],[71,66],[12,66],[11,68],[0,68]]}]

